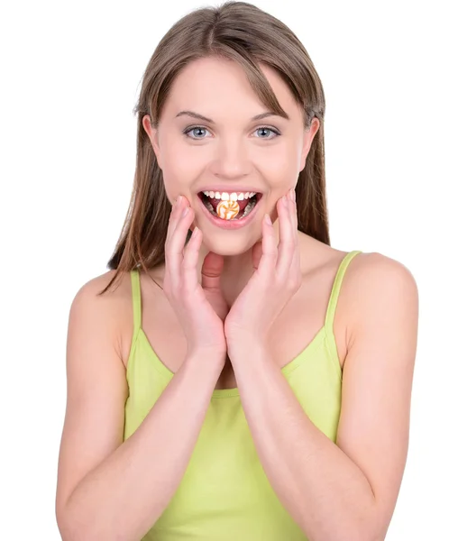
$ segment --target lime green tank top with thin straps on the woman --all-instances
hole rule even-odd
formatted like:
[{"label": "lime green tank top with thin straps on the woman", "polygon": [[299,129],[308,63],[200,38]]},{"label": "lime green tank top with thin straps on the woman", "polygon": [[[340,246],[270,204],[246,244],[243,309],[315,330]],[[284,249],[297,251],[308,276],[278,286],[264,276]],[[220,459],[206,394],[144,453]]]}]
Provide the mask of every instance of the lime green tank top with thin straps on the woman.
[{"label": "lime green tank top with thin straps on the woman", "polygon": [[[302,408],[335,442],[341,408],[342,369],[333,322],[344,273],[360,251],[341,261],[325,325],[281,371]],[[142,331],[138,271],[131,271],[133,341],[127,363],[124,440],[148,415],[173,372]],[[285,457],[286,458],[286,457]],[[169,506],[142,541],[307,541],[270,486],[253,444],[237,389],[214,390],[188,468]]]}]

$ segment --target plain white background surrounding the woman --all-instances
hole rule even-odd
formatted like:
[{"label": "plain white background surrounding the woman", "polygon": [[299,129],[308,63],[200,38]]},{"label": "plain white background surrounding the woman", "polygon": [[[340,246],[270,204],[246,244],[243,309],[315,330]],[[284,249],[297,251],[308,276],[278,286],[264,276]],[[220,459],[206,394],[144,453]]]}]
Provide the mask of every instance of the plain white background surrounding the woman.
[{"label": "plain white background surrounding the woman", "polygon": [[[254,4],[298,34],[323,81],[332,245],[383,253],[417,280],[408,464],[387,539],[458,538],[453,2]],[[69,307],[106,271],[123,225],[143,70],[202,5],[2,6],[2,539],[60,539]]]}]

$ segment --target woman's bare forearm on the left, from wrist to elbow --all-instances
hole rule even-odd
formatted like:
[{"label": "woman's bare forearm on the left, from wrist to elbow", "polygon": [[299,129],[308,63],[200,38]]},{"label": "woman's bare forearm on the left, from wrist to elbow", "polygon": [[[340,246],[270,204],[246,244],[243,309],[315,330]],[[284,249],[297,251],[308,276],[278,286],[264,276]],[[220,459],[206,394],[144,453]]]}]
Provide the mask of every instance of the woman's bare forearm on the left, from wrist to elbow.
[{"label": "woman's bare forearm on the left, from wrist to elbow", "polygon": [[72,492],[64,540],[138,541],[152,527],[186,472],[218,377],[215,359],[186,359],[142,425]]}]

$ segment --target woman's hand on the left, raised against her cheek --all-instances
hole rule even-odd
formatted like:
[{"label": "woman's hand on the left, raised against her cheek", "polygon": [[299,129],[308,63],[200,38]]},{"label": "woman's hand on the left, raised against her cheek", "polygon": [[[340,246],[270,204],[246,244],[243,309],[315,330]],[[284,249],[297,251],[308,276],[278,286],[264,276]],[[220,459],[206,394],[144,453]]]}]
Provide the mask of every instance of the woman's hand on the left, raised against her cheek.
[{"label": "woman's hand on the left, raised against her cheek", "polygon": [[[188,208],[188,214],[183,211]],[[197,280],[197,261],[202,243],[202,232],[195,227],[185,246],[194,211],[188,200],[172,207],[165,243],[164,293],[179,318],[188,343],[189,353],[213,353],[215,362],[223,368],[227,344],[224,318],[228,313],[219,288],[223,270],[223,256],[208,253],[202,267],[202,285]]]}]

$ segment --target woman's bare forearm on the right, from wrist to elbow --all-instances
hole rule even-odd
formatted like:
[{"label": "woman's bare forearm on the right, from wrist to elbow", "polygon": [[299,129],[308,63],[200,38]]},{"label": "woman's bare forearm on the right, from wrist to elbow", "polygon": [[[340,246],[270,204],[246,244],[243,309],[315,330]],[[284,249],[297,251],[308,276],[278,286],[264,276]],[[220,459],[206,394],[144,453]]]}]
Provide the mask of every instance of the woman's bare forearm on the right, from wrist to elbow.
[{"label": "woman's bare forearm on the right, from wrist to elbow", "polygon": [[368,541],[375,500],[361,469],[307,417],[262,348],[229,352],[245,417],[279,500],[313,541]]}]

